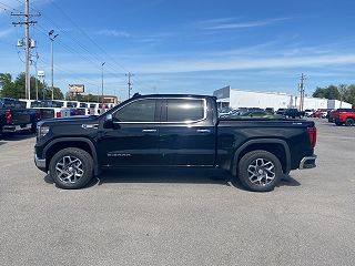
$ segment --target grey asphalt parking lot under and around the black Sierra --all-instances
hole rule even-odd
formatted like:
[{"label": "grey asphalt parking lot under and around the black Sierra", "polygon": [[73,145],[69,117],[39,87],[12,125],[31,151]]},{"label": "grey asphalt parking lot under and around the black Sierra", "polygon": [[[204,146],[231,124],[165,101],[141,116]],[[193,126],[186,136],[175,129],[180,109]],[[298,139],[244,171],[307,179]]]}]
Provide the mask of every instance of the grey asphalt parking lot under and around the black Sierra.
[{"label": "grey asphalt parking lot under and around the black Sierra", "polygon": [[0,140],[0,265],[355,265],[355,127],[315,121],[317,167],[270,193],[195,170],[64,191],[34,137]]}]

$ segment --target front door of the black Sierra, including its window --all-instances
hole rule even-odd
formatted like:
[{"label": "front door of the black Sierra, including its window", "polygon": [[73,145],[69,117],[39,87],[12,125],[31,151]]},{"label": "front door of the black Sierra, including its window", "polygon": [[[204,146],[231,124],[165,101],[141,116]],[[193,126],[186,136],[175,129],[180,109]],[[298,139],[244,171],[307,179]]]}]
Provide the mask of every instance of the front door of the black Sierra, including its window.
[{"label": "front door of the black Sierra, including its window", "polygon": [[100,160],[106,166],[160,165],[159,126],[161,100],[138,99],[115,111],[114,129],[99,137]]}]

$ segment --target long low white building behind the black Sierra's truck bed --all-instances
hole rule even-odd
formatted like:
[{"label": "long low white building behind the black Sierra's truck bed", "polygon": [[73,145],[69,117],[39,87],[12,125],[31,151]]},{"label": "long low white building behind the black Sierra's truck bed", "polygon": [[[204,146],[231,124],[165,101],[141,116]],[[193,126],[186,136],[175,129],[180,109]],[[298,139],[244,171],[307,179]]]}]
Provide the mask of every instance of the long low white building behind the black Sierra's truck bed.
[{"label": "long low white building behind the black Sierra's truck bed", "polygon": [[[300,108],[300,95],[290,95],[280,92],[257,92],[224,86],[213,92],[217,98],[219,108]],[[335,102],[334,102],[335,101]],[[342,108],[351,108],[349,103],[342,103]],[[304,98],[304,110],[306,109],[337,109],[339,101],[320,98]]]}]

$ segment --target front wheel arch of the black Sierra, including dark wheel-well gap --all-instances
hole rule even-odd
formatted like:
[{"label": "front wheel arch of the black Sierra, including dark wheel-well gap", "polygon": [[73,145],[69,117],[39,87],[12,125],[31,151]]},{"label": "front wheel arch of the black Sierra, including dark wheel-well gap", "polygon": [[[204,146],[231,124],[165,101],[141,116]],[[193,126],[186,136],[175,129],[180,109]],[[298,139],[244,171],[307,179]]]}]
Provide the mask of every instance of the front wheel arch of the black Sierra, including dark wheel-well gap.
[{"label": "front wheel arch of the black Sierra, including dark wheel-well gap", "polygon": [[92,141],[85,137],[59,137],[51,141],[43,150],[43,155],[45,157],[45,168],[48,170],[50,161],[53,155],[65,147],[78,147],[88,152],[93,160],[93,171],[94,175],[99,174],[99,163],[98,154],[94,144]]}]

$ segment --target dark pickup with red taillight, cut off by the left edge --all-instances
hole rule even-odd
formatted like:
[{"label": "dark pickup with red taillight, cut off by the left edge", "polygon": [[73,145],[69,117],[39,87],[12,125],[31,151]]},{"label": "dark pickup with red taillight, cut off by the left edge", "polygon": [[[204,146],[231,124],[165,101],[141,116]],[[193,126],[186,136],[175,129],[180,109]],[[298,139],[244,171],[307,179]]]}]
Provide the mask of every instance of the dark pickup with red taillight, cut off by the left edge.
[{"label": "dark pickup with red taillight, cut off by the left edge", "polygon": [[30,110],[26,104],[11,99],[0,98],[0,134],[12,135],[32,129]]}]

